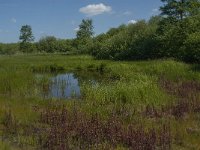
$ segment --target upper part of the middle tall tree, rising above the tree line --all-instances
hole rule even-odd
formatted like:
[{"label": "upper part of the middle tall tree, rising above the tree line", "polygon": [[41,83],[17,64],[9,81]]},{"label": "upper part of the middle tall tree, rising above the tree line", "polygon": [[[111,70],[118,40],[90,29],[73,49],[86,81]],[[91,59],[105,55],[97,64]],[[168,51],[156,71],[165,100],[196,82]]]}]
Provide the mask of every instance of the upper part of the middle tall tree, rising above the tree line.
[{"label": "upper part of the middle tall tree, rising above the tree line", "polygon": [[83,19],[76,33],[77,39],[90,38],[94,35],[93,21],[91,19]]}]

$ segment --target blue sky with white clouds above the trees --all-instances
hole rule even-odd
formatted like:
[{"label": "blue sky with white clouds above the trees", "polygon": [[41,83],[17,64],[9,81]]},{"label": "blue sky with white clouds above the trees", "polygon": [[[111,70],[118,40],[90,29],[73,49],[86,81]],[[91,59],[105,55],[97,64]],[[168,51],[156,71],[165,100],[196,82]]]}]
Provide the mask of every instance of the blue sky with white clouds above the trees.
[{"label": "blue sky with white clouds above the trees", "polygon": [[160,0],[0,0],[0,43],[19,41],[22,25],[35,40],[76,37],[82,19],[92,19],[96,35],[121,24],[159,14]]}]

